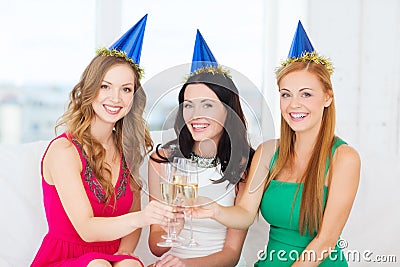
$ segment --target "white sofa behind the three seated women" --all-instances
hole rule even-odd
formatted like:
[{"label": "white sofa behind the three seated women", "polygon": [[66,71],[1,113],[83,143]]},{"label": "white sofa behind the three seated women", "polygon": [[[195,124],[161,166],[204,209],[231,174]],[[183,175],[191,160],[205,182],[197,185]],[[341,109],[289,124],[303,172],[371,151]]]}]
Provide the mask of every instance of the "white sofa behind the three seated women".
[{"label": "white sofa behind the three seated women", "polygon": [[[152,132],[155,144],[169,140],[173,132]],[[259,141],[255,141],[258,145]],[[48,141],[27,144],[0,144],[0,199],[2,219],[0,227],[0,266],[29,266],[47,232],[42,203],[40,160]],[[146,178],[147,164],[141,175]],[[142,205],[148,196],[142,193]],[[257,251],[264,248],[268,226],[260,217],[251,226],[246,238],[244,253],[248,266],[257,259]],[[150,264],[155,261],[148,245],[148,228],[142,231],[136,254]]]}]

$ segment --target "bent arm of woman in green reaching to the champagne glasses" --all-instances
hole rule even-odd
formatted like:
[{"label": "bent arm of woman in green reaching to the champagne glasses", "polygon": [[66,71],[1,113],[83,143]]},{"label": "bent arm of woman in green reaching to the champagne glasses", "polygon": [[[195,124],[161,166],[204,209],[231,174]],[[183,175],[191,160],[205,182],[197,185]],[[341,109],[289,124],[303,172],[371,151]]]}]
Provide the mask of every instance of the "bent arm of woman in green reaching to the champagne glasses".
[{"label": "bent arm of woman in green reaching to the champagne glasses", "polygon": [[264,193],[266,178],[269,171],[269,162],[275,151],[275,140],[261,144],[251,162],[249,179],[243,196],[232,207],[224,207],[210,204],[210,200],[199,197],[199,203],[203,206],[193,210],[193,216],[197,218],[213,218],[229,228],[247,229],[254,221]]}]

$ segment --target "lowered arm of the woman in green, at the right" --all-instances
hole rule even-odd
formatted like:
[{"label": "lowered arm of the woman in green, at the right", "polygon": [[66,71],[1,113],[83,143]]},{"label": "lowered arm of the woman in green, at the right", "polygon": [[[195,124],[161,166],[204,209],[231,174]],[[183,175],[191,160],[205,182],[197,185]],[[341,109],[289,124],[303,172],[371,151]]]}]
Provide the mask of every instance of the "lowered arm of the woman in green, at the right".
[{"label": "lowered arm of the woman in green, at the right", "polygon": [[[360,165],[360,157],[353,148],[347,145],[337,148],[330,170],[332,179],[321,229],[293,266],[318,266],[329,255],[328,251],[335,248],[357,193]],[[306,253],[310,251],[317,259],[309,260]]]}]

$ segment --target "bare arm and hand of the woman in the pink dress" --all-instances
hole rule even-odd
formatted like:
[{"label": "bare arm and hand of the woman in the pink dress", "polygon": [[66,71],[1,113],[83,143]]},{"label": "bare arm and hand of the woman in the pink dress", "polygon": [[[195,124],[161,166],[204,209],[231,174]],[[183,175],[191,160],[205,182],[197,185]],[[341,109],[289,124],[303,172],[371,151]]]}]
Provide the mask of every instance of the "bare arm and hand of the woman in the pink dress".
[{"label": "bare arm and hand of the woman in the pink dress", "polygon": [[83,240],[115,240],[143,226],[165,224],[165,217],[172,218],[172,208],[156,201],[142,211],[118,217],[94,217],[81,170],[79,154],[67,139],[57,139],[50,145],[43,162],[44,178],[55,186],[68,218]]}]

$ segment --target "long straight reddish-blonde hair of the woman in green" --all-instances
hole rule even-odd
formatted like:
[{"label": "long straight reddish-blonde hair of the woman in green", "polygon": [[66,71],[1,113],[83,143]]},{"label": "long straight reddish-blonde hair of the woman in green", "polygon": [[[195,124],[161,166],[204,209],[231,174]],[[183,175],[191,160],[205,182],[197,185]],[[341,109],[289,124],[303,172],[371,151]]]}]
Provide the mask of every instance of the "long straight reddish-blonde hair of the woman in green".
[{"label": "long straight reddish-blonde hair of the woman in green", "polygon": [[[302,200],[300,205],[299,226],[301,234],[307,230],[310,234],[318,232],[322,224],[323,198],[325,185],[325,169],[327,161],[330,161],[332,146],[335,139],[336,108],[333,98],[333,88],[329,70],[324,65],[313,61],[293,62],[279,68],[276,71],[277,83],[295,71],[306,70],[315,75],[321,82],[323,90],[330,97],[332,103],[324,108],[321,128],[313,148],[307,168],[301,177],[303,183]],[[274,167],[270,170],[267,184],[278,176],[286,164],[291,165],[294,159],[295,132],[290,128],[285,119],[281,116],[281,133],[279,142],[278,158]],[[328,173],[331,176],[331,173]],[[330,178],[329,178],[330,179]],[[300,184],[299,184],[300,186]],[[297,192],[299,187],[297,189]],[[295,198],[297,196],[297,192]],[[293,200],[294,204],[294,200]]]}]

